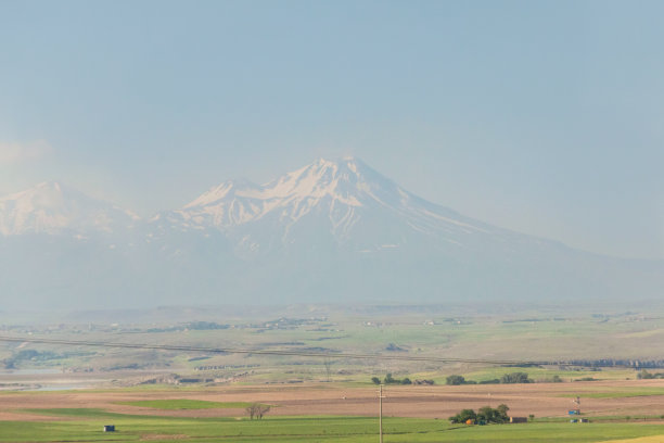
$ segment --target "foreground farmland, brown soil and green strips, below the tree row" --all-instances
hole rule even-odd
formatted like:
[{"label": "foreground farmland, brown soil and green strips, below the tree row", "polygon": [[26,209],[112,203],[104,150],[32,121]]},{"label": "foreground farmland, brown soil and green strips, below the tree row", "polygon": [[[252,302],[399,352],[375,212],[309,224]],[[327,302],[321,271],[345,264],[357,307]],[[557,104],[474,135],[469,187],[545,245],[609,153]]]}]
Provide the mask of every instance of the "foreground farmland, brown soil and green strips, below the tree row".
[{"label": "foreground farmland, brown soil and green strips, below the tree row", "polygon": [[[387,442],[600,442],[664,435],[664,381],[387,387]],[[604,395],[597,395],[604,394]],[[572,397],[589,423],[571,423]],[[270,405],[263,420],[245,406]],[[460,426],[463,408],[507,404],[527,423]],[[378,433],[375,387],[151,387],[0,395],[0,441],[370,442]],[[117,432],[101,432],[115,425]],[[664,436],[662,436],[664,439]],[[657,441],[657,440],[652,440]]]}]

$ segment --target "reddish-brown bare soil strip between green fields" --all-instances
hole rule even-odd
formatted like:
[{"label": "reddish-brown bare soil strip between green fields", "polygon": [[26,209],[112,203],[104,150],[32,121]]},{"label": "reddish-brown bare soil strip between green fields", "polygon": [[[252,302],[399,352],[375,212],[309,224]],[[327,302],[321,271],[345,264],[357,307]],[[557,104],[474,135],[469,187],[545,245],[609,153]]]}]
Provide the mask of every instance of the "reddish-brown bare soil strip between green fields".
[{"label": "reddish-brown bare soil strip between green fields", "polygon": [[[485,384],[462,387],[386,387],[385,416],[446,419],[460,409],[480,408],[501,403],[510,415],[536,417],[566,416],[575,405],[571,395],[580,395],[582,410],[588,415],[664,415],[664,395],[618,398],[584,397],[587,392],[643,391],[664,388],[664,380],[626,380],[611,382]],[[216,387],[205,391],[76,391],[5,392],[0,394],[0,420],[66,420],[23,413],[31,408],[101,408],[122,414],[148,414],[171,417],[242,417],[243,409],[164,410],[119,405],[117,402],[141,400],[191,398],[210,402],[260,402],[274,407],[269,415],[373,416],[378,413],[378,389],[344,388],[333,383],[304,385]]]}]

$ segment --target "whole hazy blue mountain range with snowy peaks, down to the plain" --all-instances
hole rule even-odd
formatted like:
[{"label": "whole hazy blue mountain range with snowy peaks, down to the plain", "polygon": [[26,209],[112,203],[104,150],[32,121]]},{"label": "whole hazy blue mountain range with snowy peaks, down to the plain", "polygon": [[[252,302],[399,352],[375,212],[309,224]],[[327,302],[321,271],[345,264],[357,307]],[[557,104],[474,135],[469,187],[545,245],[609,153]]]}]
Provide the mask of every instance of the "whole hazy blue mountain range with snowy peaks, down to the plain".
[{"label": "whole hazy blue mountain range with snowy peaks, down to the plain", "polygon": [[462,216],[357,159],[226,181],[140,220],[43,183],[0,199],[16,305],[574,303],[661,296],[661,262],[620,261]]}]

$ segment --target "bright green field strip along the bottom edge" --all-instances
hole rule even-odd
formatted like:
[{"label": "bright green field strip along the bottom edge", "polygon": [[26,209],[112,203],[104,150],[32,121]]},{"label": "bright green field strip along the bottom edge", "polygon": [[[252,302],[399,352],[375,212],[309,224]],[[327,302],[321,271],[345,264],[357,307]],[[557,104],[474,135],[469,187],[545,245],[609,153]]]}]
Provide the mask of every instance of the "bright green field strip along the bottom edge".
[{"label": "bright green field strip along the bottom edge", "polygon": [[[37,410],[31,410],[33,413]],[[367,417],[164,418],[100,409],[40,409],[68,421],[1,421],[0,442],[347,442],[378,441],[378,420]],[[103,425],[116,432],[104,433]],[[385,418],[385,442],[601,442],[664,434],[664,425],[529,422],[460,426],[444,420]]]}]

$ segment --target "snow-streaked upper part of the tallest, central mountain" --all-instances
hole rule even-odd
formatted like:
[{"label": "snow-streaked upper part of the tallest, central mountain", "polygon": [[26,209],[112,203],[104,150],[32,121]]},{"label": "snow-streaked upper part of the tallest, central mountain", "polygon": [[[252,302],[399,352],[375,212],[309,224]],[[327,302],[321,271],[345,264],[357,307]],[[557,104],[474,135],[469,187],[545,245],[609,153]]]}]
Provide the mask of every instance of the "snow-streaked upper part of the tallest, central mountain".
[{"label": "snow-streaked upper part of the tallest, central mountain", "polygon": [[263,186],[226,181],[153,223],[161,232],[216,229],[251,251],[325,238],[339,248],[370,252],[401,248],[414,238],[468,248],[518,237],[426,202],[352,157],[321,159]]}]

